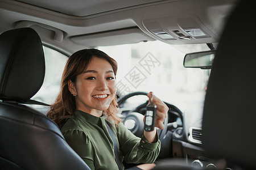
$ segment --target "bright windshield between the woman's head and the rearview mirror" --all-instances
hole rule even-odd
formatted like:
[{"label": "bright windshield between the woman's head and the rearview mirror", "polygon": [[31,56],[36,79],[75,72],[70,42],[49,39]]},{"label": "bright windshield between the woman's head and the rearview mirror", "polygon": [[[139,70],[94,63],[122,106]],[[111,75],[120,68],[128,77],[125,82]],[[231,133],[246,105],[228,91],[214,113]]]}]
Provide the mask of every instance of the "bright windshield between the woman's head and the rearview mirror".
[{"label": "bright windshield between the woman's head and the rearview mirror", "polygon": [[183,51],[192,53],[209,50],[206,44],[172,46],[151,41],[101,46],[98,49],[118,62],[119,95],[153,91],[160,99],[172,104],[203,103],[209,70],[184,68]]}]

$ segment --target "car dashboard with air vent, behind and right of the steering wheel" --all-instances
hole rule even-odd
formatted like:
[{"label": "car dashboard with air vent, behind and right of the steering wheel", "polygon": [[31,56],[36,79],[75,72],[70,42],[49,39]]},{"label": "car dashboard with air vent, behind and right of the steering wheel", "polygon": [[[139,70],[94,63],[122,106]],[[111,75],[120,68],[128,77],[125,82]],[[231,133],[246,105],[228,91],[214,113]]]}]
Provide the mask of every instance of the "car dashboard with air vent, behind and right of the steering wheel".
[{"label": "car dashboard with air vent, behind and right of the steering wheel", "polygon": [[[140,102],[137,101],[136,103]],[[124,119],[129,114],[134,114],[134,112],[144,116],[148,101],[144,103],[141,101],[141,103],[137,107],[134,107],[134,103],[131,104],[129,101],[122,103],[119,108],[119,116]],[[162,160],[168,162],[168,160],[185,159],[188,165],[195,168],[216,168],[222,166],[223,169],[241,169],[241,167],[225,163],[225,160],[209,156],[204,150],[201,141],[203,135],[201,128],[203,101],[197,105],[187,105],[183,109],[179,109],[174,104],[165,103],[169,107],[167,131],[161,140],[161,151],[156,164],[162,162]]]}]

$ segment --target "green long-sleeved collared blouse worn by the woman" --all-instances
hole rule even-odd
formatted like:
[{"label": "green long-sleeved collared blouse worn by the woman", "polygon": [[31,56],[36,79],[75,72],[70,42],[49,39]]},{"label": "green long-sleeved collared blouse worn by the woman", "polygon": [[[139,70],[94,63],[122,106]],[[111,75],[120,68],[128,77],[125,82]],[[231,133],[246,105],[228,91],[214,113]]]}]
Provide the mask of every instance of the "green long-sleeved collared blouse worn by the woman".
[{"label": "green long-sleeved collared blouse worn by the woman", "polygon": [[[61,132],[69,146],[91,169],[118,169],[114,143],[105,125],[106,116],[95,117],[91,114],[76,111],[68,118]],[[154,163],[160,151],[160,141],[147,142],[147,139],[136,137],[119,123],[117,128],[108,120],[117,139],[120,160],[126,163]],[[158,137],[158,135],[157,135]]]}]

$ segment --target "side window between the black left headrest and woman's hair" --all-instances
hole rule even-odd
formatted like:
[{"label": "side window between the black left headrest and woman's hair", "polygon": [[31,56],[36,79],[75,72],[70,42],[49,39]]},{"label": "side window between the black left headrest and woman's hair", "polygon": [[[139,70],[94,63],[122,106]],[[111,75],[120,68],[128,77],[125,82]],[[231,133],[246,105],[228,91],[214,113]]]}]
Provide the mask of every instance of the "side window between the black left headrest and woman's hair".
[{"label": "side window between the black left headrest and woman's hair", "polygon": [[[61,76],[68,57],[46,46],[43,46],[43,49],[46,59],[46,75],[43,86],[31,99],[53,104],[60,92]],[[40,108],[40,105],[34,107]]]}]

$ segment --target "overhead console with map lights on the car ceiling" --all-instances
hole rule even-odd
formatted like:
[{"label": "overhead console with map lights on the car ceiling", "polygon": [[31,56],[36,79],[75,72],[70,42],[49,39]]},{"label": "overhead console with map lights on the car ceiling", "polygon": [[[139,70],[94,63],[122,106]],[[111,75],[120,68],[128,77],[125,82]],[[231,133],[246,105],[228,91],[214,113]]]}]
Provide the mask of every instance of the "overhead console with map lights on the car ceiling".
[{"label": "overhead console with map lights on the car ceiling", "polygon": [[195,14],[144,19],[142,24],[156,39],[169,44],[218,42],[218,37]]}]

